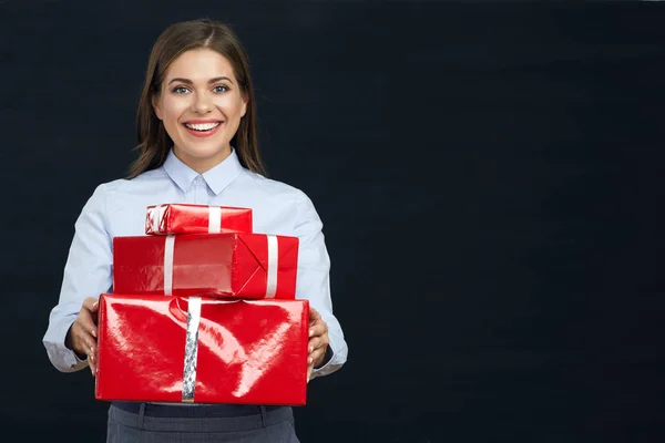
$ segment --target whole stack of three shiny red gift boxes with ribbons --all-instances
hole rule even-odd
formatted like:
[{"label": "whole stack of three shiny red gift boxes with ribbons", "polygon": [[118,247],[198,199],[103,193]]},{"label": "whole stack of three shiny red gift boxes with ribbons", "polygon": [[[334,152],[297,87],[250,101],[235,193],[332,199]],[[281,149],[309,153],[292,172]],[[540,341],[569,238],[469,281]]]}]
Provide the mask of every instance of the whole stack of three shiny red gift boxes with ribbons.
[{"label": "whole stack of three shiny red gift boxes with ribbons", "polygon": [[298,238],[253,233],[248,208],[175,204],[149,206],[145,234],[113,239],[95,398],[305,404]]}]

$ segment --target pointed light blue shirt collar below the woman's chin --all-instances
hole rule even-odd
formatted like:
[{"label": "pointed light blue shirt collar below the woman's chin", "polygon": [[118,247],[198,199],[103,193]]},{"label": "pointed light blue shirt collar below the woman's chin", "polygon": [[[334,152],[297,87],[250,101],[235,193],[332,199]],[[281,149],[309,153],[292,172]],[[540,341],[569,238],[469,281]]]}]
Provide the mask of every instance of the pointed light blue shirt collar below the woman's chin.
[{"label": "pointed light blue shirt collar below the woman's chin", "polygon": [[175,156],[173,148],[168,151],[168,155],[162,167],[183,192],[190,189],[194,179],[201,175],[216,195],[224,190],[224,188],[228,186],[243,169],[233,147],[231,148],[231,155],[228,157],[203,174],[198,174],[196,171],[184,164]]}]

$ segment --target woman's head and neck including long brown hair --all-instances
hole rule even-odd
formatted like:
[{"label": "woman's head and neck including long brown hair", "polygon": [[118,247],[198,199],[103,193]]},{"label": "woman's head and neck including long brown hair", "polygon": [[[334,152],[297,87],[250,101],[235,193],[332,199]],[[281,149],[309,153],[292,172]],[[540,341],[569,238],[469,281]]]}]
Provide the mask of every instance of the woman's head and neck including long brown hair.
[{"label": "woman's head and neck including long brown hair", "polygon": [[163,164],[172,147],[202,174],[226,158],[231,146],[244,167],[265,175],[249,64],[237,35],[223,23],[182,22],[160,35],[136,126],[140,157],[130,177]]}]

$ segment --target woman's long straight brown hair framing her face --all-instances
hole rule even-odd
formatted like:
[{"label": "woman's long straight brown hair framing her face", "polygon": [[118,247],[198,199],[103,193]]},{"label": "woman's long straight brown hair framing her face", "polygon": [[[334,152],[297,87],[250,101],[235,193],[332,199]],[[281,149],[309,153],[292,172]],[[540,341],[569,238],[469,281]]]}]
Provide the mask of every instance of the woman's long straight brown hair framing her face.
[{"label": "woman's long straight brown hair framing her face", "polygon": [[139,158],[130,167],[129,178],[164,164],[173,142],[162,121],[155,115],[152,99],[155,94],[160,94],[168,65],[184,52],[201,48],[212,49],[231,62],[241,92],[247,99],[247,111],[241,119],[231,145],[244,167],[266,175],[258,151],[256,104],[247,54],[228,25],[202,19],[170,25],[153,45],[136,114],[139,145],[135,150],[139,151]]}]

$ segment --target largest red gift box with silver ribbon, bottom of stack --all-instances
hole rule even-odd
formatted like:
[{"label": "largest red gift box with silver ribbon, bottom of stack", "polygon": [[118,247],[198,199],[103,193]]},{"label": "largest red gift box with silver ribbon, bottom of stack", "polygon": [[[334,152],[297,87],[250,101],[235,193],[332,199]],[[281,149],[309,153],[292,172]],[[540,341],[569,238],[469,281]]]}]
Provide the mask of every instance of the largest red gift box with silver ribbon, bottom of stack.
[{"label": "largest red gift box with silver ribbon, bottom of stack", "polygon": [[95,398],[303,405],[307,300],[100,297]]}]

